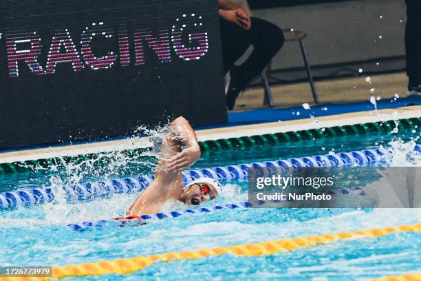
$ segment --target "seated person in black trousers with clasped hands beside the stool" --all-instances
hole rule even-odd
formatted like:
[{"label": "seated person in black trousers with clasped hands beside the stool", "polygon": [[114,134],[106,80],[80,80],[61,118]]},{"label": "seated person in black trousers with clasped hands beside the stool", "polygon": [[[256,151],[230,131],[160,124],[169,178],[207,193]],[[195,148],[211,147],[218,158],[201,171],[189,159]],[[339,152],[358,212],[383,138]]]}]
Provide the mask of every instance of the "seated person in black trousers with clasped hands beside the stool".
[{"label": "seated person in black trousers with clasped hands beside the stool", "polygon": [[[226,94],[228,110],[233,110],[235,99],[252,79],[265,69],[282,47],[282,30],[263,19],[250,17],[243,9],[228,0],[219,0],[224,74],[230,71],[230,84]],[[233,67],[246,50],[253,46],[248,59]]]}]

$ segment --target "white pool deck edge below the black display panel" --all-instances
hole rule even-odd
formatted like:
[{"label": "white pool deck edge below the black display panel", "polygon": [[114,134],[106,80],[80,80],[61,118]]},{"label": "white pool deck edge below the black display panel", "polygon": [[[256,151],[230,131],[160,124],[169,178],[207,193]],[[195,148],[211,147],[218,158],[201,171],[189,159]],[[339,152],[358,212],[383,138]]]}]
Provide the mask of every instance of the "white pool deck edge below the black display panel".
[{"label": "white pool deck edge below the black display panel", "polygon": [[[421,106],[398,107],[394,109],[354,112],[337,114],[316,118],[299,119],[292,121],[279,121],[272,123],[241,125],[233,127],[222,127],[215,129],[198,130],[199,141],[216,140],[219,138],[233,138],[240,136],[252,136],[258,134],[273,134],[279,132],[298,131],[302,129],[316,129],[323,127],[334,127],[338,125],[354,125],[358,123],[369,123],[378,121],[390,121],[403,118],[414,118],[421,116]],[[117,141],[99,141],[96,143],[85,143],[79,145],[63,145],[37,149],[25,149],[16,152],[0,153],[0,163],[14,161],[37,160],[42,158],[53,158],[60,156],[76,156],[100,152],[119,151],[123,149],[136,149],[149,147],[151,143],[148,137],[127,138]]]}]

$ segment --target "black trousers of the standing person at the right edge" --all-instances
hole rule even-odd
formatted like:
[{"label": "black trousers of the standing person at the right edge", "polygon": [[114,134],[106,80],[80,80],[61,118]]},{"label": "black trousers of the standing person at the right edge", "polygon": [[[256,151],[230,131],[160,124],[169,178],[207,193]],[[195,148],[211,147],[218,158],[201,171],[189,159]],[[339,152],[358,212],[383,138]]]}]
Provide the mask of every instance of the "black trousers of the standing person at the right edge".
[{"label": "black trousers of the standing person at the right edge", "polygon": [[421,82],[421,1],[406,0],[407,28],[405,48],[407,50],[407,75],[410,80]]}]

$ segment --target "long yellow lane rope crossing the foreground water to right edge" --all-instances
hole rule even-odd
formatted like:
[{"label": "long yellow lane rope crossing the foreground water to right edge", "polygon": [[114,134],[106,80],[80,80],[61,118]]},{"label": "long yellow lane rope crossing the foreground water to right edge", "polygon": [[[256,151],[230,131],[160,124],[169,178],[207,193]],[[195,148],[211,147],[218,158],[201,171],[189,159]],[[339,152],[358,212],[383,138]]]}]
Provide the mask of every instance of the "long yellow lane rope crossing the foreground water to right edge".
[{"label": "long yellow lane rope crossing the foreground water to right edge", "polygon": [[[416,225],[402,225],[400,227],[387,227],[383,229],[369,229],[354,232],[342,232],[325,234],[321,236],[308,236],[299,238],[287,238],[281,240],[242,244],[228,247],[217,247],[213,249],[200,249],[196,251],[182,251],[178,253],[161,253],[146,257],[120,258],[117,260],[104,260],[85,264],[68,265],[67,267],[53,267],[53,278],[65,278],[72,276],[88,276],[103,274],[128,274],[147,267],[153,262],[166,262],[169,260],[191,260],[206,256],[219,256],[224,253],[231,253],[235,256],[261,256],[272,255],[281,251],[293,251],[311,245],[332,242],[334,240],[345,240],[358,237],[386,236],[397,231],[421,232],[421,223]],[[47,280],[49,278],[0,278],[0,280]],[[412,279],[409,279],[412,280]]]}]

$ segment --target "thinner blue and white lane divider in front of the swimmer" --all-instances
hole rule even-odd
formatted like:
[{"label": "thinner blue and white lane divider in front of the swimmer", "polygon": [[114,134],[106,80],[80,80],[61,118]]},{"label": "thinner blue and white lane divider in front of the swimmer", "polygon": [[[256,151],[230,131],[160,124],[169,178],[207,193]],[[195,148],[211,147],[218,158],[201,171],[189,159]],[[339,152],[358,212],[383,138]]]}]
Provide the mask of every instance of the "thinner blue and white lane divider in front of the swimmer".
[{"label": "thinner blue and white lane divider in front of the swimmer", "polygon": [[[346,187],[343,189],[330,190],[330,191],[327,191],[327,194],[351,195],[351,196],[365,196],[366,195],[365,191],[361,189],[360,187]],[[274,202],[280,202],[280,201],[274,200]],[[169,211],[166,213],[141,215],[139,217],[128,217],[126,220],[133,220],[133,221],[140,220],[142,222],[146,220],[163,220],[164,218],[177,218],[179,216],[192,215],[192,214],[213,213],[215,211],[219,211],[222,209],[247,209],[247,208],[253,207],[254,205],[259,205],[259,207],[263,207],[263,205],[265,204],[266,204],[266,201],[263,201],[263,200],[259,200],[255,202],[255,204],[248,201],[244,201],[244,202],[239,202],[239,203],[230,203],[224,206],[215,205],[212,207],[199,207],[197,209],[186,209],[186,210],[181,210],[181,211]],[[91,227],[102,227],[106,225],[107,223],[116,223],[116,222],[121,222],[122,220],[125,220],[125,219],[116,218],[116,219],[111,219],[111,220],[97,220],[94,222],[86,221],[86,222],[80,222],[80,223],[70,223],[67,225],[67,228],[74,231],[84,231]]]}]

